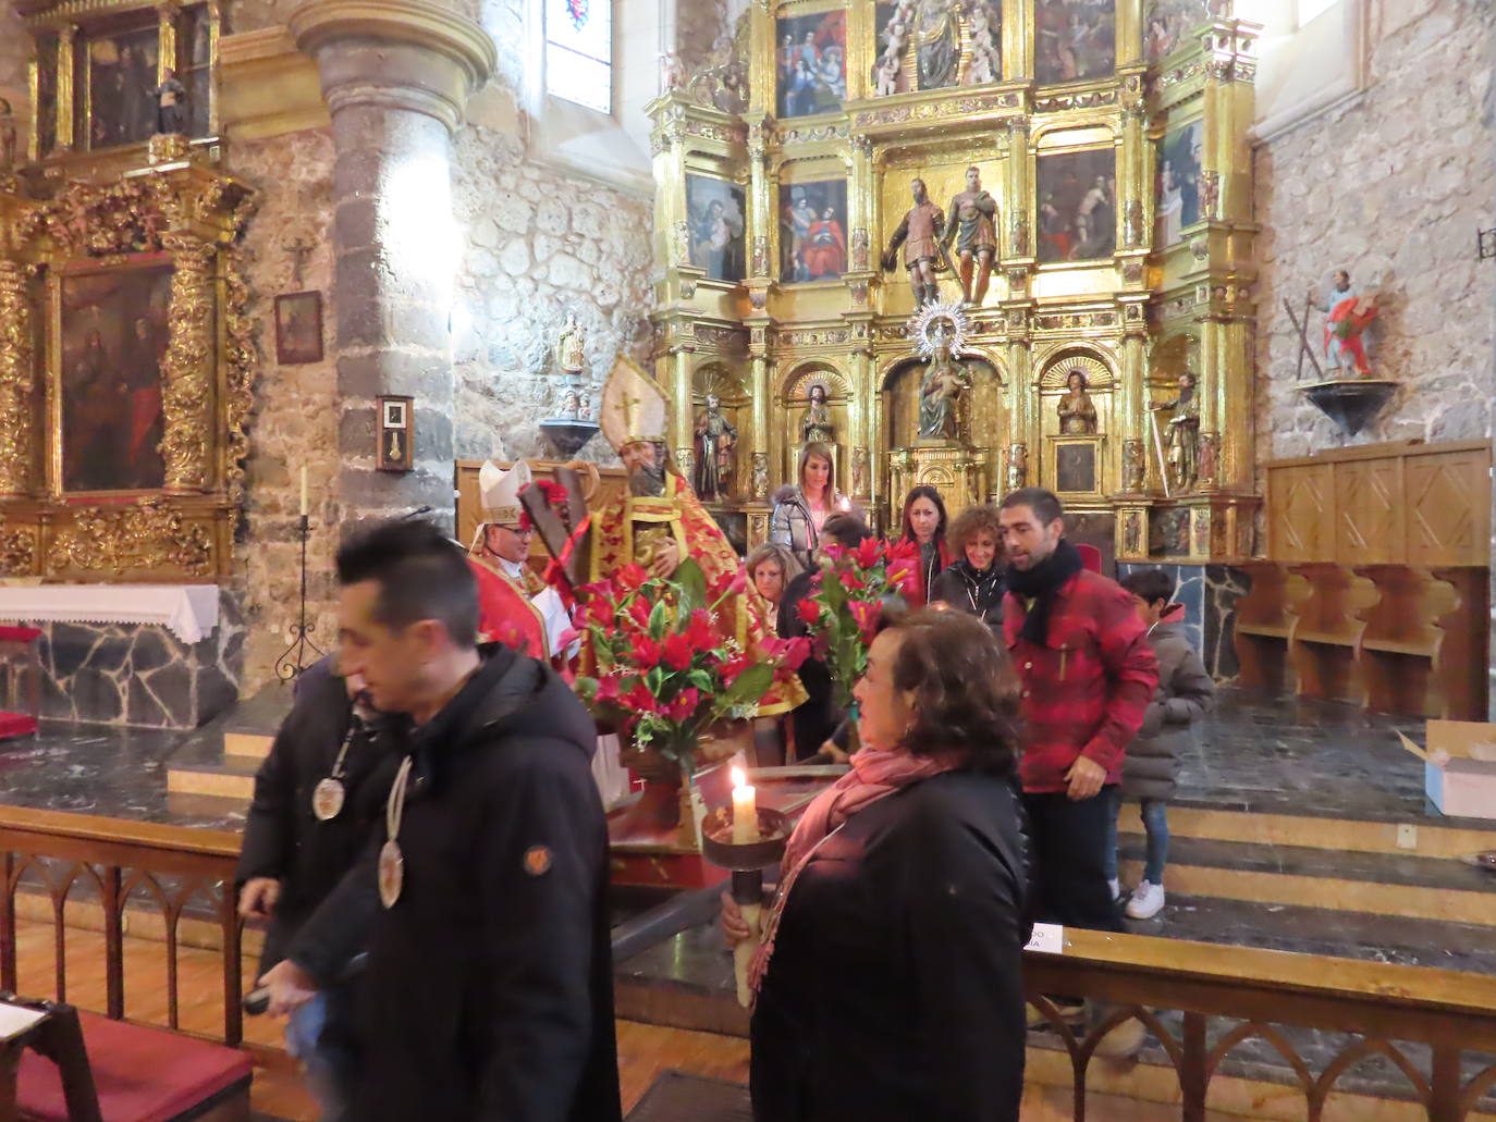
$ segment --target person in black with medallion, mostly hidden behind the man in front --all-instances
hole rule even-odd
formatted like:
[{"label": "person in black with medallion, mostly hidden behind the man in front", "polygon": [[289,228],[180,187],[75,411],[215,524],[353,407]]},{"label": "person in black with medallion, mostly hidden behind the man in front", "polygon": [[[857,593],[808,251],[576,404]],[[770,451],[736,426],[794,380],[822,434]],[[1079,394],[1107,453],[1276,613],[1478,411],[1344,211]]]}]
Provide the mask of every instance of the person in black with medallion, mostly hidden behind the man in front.
[{"label": "person in black with medallion, mostly hidden behind the man in front", "polygon": [[[286,957],[317,905],[358,862],[371,827],[383,821],[398,758],[353,694],[331,655],[307,667],[296,681],[295,708],[254,776],[235,880],[239,914],[269,920],[262,977]],[[343,1119],[358,1083],[347,987],[332,981],[292,1011],[286,1043],[307,1068],[323,1122]]]}]

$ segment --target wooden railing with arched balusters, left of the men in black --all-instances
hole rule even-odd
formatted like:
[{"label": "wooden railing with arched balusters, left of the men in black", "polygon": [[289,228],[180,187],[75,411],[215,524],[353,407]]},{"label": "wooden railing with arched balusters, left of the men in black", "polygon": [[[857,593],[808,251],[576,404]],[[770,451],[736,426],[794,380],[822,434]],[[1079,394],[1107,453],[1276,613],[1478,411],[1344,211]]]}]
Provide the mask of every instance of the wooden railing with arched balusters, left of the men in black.
[{"label": "wooden railing with arched balusters, left of the men in black", "polygon": [[211,1037],[236,1047],[244,1035],[241,929],[233,899],[238,856],[239,835],[226,830],[0,806],[0,990],[24,989],[16,969],[18,899],[36,893],[51,904],[55,992],[27,996],[57,1001],[67,1001],[67,939],[84,934],[66,922],[67,911],[97,905],[105,951],[102,1011],[123,1019],[127,904],[133,917],[135,901],[144,898],[156,904],[160,920],[168,1026],[181,1028],[183,931],[209,925],[223,963],[223,1032]]}]

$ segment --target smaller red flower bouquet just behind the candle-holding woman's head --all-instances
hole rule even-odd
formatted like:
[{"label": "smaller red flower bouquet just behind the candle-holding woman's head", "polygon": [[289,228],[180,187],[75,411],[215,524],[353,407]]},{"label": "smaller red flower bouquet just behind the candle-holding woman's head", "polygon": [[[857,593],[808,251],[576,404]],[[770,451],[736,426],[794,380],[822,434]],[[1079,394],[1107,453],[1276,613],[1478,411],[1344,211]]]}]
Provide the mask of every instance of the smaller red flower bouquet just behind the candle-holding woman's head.
[{"label": "smaller red flower bouquet just behind the candle-holding woman's head", "polygon": [[826,663],[836,706],[853,709],[851,690],[868,672],[868,646],[878,612],[919,580],[919,549],[908,542],[865,539],[856,549],[826,546],[827,561],[811,577],[800,601],[800,619],[811,634],[811,652]]}]

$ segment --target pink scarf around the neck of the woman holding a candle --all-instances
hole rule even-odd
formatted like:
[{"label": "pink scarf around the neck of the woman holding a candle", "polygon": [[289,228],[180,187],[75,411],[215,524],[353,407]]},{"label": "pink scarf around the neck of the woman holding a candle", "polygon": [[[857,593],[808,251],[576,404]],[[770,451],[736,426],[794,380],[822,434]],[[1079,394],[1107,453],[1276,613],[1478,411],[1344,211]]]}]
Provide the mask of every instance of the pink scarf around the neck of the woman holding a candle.
[{"label": "pink scarf around the neck of the woman holding a candle", "polygon": [[817,794],[805,808],[805,814],[800,815],[794,833],[790,835],[790,841],[784,847],[784,860],[779,862],[782,875],[779,898],[769,910],[769,917],[763,925],[763,942],[748,966],[748,984],[755,996],[764,974],[769,972],[769,957],[773,954],[773,936],[779,931],[784,902],[790,899],[794,881],[811,863],[811,857],[821,847],[821,842],[845,826],[847,820],[857,811],[913,782],[948,772],[954,766],[954,760],[948,757],[910,755],[905,751],[890,752],[866,747],[851,757],[851,770],[832,784],[829,790]]}]

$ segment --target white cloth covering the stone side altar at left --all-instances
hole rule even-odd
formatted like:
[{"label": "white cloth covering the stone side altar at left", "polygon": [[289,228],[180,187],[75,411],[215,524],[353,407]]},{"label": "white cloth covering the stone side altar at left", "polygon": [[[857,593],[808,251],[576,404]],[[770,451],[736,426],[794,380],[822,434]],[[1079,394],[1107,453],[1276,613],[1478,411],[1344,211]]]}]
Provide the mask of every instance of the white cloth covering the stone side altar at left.
[{"label": "white cloth covering the stone side altar at left", "polygon": [[0,619],[22,624],[160,624],[184,643],[218,625],[217,585],[0,586]]}]

